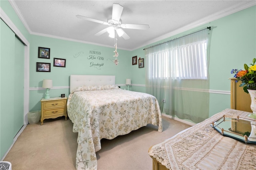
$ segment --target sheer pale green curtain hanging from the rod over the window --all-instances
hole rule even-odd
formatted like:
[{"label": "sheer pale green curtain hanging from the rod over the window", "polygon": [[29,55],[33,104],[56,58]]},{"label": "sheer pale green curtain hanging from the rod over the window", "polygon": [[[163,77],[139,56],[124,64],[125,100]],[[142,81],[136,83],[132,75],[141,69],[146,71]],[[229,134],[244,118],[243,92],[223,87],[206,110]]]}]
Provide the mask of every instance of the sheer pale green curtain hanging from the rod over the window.
[{"label": "sheer pale green curtain hanging from the rod over the window", "polygon": [[162,112],[195,123],[208,118],[208,46],[205,29],[145,49],[146,92]]}]

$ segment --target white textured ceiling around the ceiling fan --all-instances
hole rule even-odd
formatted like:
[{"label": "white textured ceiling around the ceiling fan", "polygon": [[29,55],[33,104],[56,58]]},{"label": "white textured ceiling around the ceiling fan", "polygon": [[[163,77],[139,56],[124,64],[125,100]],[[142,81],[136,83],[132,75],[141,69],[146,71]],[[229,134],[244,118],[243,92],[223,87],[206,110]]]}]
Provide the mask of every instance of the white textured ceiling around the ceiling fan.
[{"label": "white textured ceiling around the ceiling fan", "polygon": [[124,7],[123,24],[148,24],[148,30],[123,29],[129,40],[118,38],[119,49],[134,50],[186,29],[208,23],[255,5],[255,0],[15,0],[10,1],[30,34],[114,47],[107,33],[94,36],[108,27],[82,20],[82,15],[107,22],[113,3]]}]

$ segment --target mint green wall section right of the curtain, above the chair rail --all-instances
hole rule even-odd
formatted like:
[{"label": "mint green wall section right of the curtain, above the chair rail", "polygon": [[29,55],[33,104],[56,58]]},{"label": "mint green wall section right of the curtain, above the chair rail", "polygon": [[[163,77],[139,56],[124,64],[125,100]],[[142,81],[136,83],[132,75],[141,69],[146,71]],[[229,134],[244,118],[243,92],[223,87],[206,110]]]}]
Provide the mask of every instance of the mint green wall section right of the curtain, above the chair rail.
[{"label": "mint green wall section right of the curtain, above the chair rail", "polygon": [[210,48],[210,89],[230,90],[231,69],[243,69],[244,63],[252,63],[256,57],[256,6],[211,22],[211,25],[214,28]]}]

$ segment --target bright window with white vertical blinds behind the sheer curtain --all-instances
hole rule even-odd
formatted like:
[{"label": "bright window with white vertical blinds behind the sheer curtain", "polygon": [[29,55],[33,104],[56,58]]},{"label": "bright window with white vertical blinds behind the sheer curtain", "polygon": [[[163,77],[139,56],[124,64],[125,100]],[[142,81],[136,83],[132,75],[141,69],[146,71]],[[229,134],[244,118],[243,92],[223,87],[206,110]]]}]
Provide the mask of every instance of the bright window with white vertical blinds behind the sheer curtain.
[{"label": "bright window with white vertical blinds behind the sheer curtain", "polygon": [[149,79],[207,79],[207,40],[148,53]]}]

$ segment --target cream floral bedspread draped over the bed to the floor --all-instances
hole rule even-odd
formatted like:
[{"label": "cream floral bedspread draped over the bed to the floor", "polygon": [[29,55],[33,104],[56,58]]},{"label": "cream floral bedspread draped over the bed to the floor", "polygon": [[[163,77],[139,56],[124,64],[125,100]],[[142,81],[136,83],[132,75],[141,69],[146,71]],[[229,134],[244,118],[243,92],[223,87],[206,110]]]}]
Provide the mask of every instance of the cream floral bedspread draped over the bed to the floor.
[{"label": "cream floral bedspread draped over the bed to the floor", "polygon": [[115,85],[90,85],[72,91],[68,117],[78,132],[76,169],[97,169],[96,152],[102,138],[113,139],[147,124],[162,132],[157,99],[146,93],[126,91]]}]

